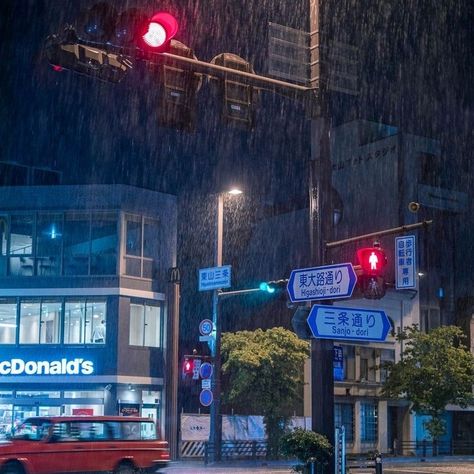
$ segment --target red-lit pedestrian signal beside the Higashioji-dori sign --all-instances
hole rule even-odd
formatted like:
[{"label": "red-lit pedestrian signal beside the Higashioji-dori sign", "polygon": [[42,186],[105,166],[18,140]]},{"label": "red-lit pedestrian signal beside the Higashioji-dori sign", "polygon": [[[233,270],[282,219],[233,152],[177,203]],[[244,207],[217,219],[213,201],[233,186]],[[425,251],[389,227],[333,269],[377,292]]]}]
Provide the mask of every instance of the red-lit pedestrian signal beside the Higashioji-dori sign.
[{"label": "red-lit pedestrian signal beside the Higashioji-dori sign", "polygon": [[357,250],[357,258],[362,274],[358,282],[364,298],[380,299],[385,296],[385,267],[387,257],[379,245],[365,247]]}]

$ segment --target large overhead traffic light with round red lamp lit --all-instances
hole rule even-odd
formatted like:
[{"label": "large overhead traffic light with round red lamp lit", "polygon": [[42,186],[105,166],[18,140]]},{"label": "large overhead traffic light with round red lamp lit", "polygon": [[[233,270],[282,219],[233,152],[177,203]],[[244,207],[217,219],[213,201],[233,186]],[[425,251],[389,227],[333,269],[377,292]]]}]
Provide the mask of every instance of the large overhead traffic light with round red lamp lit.
[{"label": "large overhead traffic light with round red lamp lit", "polygon": [[100,80],[119,82],[133,58],[148,59],[171,47],[178,22],[169,13],[151,16],[131,8],[118,13],[106,2],[93,5],[62,33],[46,40],[45,52],[55,71],[68,69]]}]

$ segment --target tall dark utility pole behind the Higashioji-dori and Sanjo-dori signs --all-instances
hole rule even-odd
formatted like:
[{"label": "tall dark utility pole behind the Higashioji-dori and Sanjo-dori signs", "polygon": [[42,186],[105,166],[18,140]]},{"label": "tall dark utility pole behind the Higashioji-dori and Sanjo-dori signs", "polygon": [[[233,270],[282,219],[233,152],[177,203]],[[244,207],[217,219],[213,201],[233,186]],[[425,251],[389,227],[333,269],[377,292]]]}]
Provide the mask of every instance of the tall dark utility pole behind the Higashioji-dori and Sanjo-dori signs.
[{"label": "tall dark utility pole behind the Higashioji-dori and Sanjo-dori signs", "polygon": [[[309,170],[311,263],[324,265],[325,244],[332,233],[332,173],[330,155],[330,113],[327,92],[327,48],[321,25],[322,2],[309,0],[310,87],[318,91],[311,120],[311,159]],[[316,109],[316,110],[315,110]],[[325,435],[334,446],[333,341],[311,339],[311,429]],[[327,472],[334,472],[334,460]]]}]

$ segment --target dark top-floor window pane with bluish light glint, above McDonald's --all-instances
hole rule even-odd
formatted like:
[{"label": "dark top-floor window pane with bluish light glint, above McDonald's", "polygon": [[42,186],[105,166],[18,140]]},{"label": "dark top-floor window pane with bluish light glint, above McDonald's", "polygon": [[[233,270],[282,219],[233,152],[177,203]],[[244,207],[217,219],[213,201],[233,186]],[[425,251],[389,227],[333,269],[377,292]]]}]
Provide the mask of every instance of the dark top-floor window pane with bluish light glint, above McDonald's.
[{"label": "dark top-floor window pane with bluish light glint, above McDonald's", "polygon": [[62,214],[38,214],[36,222],[36,275],[59,275],[62,236]]}]

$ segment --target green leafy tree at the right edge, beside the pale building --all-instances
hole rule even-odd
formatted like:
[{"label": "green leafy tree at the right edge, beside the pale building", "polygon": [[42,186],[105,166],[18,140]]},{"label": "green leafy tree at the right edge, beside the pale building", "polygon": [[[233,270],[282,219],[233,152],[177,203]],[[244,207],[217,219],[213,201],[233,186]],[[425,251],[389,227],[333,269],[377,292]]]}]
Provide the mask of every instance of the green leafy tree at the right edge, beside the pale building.
[{"label": "green leafy tree at the right edge, beside the pale building", "polygon": [[466,407],[474,402],[474,357],[456,326],[442,326],[429,333],[413,326],[398,338],[405,342],[403,356],[396,364],[385,364],[389,376],[382,393],[405,398],[412,411],[431,415],[426,428],[436,439],[442,434],[440,417],[448,403]]}]

